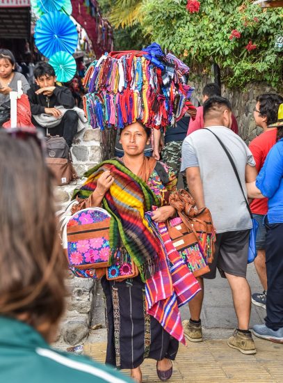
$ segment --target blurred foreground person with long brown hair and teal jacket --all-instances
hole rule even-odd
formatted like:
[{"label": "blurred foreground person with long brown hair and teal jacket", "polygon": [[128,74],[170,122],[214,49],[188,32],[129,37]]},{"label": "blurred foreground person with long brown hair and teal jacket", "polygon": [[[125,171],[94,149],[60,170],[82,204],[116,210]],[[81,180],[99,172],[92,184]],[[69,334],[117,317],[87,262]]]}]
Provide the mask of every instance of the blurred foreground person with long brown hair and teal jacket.
[{"label": "blurred foreground person with long brown hair and teal jacket", "polygon": [[131,382],[49,346],[64,312],[67,265],[37,136],[0,132],[0,178],[0,382]]}]

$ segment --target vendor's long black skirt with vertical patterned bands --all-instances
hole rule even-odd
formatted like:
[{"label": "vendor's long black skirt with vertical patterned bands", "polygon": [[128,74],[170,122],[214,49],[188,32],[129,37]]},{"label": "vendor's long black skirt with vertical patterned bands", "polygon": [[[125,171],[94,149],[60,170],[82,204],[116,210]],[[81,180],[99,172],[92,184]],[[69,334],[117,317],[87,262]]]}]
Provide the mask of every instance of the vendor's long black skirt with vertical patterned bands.
[{"label": "vendor's long black skirt with vertical patterned bands", "polygon": [[102,278],[106,297],[106,363],[136,368],[145,358],[174,360],[179,342],[145,312],[145,283],[140,276],[122,282]]}]

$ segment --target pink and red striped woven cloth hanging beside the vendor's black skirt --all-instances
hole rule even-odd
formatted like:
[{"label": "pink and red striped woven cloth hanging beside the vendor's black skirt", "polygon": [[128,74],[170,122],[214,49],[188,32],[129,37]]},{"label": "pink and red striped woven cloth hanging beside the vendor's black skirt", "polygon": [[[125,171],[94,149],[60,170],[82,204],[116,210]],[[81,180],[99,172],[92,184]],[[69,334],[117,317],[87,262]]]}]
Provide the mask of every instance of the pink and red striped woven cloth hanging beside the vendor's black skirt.
[{"label": "pink and red striped woven cloth hanging beside the vendor's black skirt", "polygon": [[162,269],[145,283],[147,313],[177,341],[186,344],[179,306],[192,299],[201,290],[200,285],[173,246],[165,224],[152,221],[150,212],[145,217],[161,244],[162,260]]}]

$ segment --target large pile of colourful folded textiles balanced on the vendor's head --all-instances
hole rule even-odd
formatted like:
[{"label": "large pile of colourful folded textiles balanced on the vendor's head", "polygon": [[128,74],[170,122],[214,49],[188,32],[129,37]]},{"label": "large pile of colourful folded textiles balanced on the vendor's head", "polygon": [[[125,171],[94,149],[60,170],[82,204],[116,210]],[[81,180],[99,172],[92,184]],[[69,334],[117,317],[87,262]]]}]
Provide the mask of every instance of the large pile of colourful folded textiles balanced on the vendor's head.
[{"label": "large pile of colourful folded textiles balanced on the vendor's head", "polygon": [[104,54],[93,61],[84,79],[88,94],[83,105],[88,122],[103,130],[122,129],[138,120],[160,129],[175,126],[186,111],[194,118],[189,71],[173,54],[165,55],[155,42],[143,51]]}]

